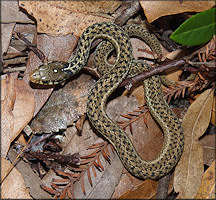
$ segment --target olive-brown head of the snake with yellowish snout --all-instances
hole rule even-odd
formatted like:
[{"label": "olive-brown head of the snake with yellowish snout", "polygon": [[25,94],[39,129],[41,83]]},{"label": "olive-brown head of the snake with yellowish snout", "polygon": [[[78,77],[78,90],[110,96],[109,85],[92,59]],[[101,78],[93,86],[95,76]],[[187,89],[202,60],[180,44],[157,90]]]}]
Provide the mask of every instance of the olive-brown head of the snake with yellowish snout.
[{"label": "olive-brown head of the snake with yellowish snout", "polygon": [[29,74],[30,81],[41,85],[59,84],[69,78],[64,71],[67,65],[66,62],[45,63]]}]

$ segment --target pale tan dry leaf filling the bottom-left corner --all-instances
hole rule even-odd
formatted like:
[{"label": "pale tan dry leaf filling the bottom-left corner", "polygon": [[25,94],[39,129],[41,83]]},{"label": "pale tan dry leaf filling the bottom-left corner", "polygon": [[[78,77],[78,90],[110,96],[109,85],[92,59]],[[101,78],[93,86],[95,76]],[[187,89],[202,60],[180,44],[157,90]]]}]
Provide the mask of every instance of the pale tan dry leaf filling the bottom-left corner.
[{"label": "pale tan dry leaf filling the bottom-left corner", "polygon": [[[11,163],[1,157],[1,177],[4,178]],[[2,179],[1,179],[2,181]],[[32,199],[26,189],[25,181],[20,172],[14,167],[1,184],[2,199]]]}]

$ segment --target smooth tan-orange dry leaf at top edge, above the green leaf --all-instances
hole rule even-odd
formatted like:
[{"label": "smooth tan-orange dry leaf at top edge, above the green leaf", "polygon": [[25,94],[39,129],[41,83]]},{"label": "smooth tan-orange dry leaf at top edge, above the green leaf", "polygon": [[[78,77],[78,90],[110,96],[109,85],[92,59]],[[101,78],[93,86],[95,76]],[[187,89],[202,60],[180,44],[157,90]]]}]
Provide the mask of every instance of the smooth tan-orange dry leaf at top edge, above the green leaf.
[{"label": "smooth tan-orange dry leaf at top edge, above the green leaf", "polygon": [[166,15],[183,12],[202,12],[215,5],[214,1],[140,1],[149,23]]}]

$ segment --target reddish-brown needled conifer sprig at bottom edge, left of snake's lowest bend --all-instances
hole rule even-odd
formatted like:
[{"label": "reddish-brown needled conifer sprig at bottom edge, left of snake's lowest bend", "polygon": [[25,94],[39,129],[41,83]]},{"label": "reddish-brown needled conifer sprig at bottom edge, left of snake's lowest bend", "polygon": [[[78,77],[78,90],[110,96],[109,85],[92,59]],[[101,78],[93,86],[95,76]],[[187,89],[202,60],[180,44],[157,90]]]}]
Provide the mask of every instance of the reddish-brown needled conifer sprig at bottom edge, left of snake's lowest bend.
[{"label": "reddish-brown needled conifer sprig at bottom edge, left of snake's lowest bend", "polygon": [[54,195],[54,198],[65,199],[66,197],[70,199],[75,199],[74,195],[74,183],[80,181],[83,193],[86,195],[85,187],[84,187],[84,174],[87,174],[88,181],[90,185],[93,187],[91,172],[95,177],[97,177],[96,169],[99,171],[104,171],[104,166],[100,161],[100,155],[102,154],[104,159],[110,163],[110,152],[108,150],[108,146],[111,147],[113,153],[115,152],[112,145],[109,145],[108,142],[101,142],[97,144],[93,144],[88,149],[95,149],[92,153],[87,156],[81,157],[80,166],[75,168],[68,166],[68,169],[71,171],[70,173],[62,172],[60,170],[56,170],[56,174],[61,176],[62,179],[53,179],[52,180],[52,188],[41,186],[44,190]]}]

